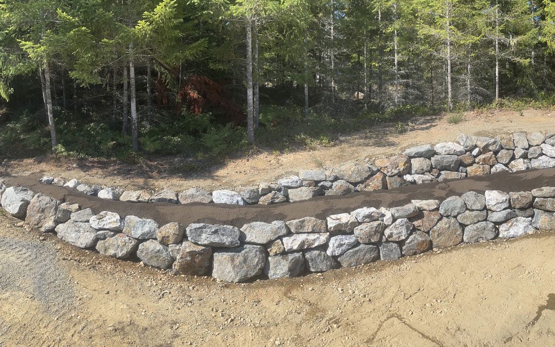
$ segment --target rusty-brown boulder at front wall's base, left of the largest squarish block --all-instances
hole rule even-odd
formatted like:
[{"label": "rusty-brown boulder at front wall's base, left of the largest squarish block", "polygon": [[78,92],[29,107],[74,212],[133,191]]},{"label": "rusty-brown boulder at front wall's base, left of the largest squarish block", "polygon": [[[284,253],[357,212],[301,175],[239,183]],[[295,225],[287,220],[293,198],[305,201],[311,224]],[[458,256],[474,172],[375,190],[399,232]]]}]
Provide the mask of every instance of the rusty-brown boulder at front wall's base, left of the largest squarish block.
[{"label": "rusty-brown boulder at front wall's base, left of the largest squarish block", "polygon": [[[171,251],[170,251],[171,253]],[[173,263],[176,275],[202,276],[210,267],[212,248],[184,241]]]}]

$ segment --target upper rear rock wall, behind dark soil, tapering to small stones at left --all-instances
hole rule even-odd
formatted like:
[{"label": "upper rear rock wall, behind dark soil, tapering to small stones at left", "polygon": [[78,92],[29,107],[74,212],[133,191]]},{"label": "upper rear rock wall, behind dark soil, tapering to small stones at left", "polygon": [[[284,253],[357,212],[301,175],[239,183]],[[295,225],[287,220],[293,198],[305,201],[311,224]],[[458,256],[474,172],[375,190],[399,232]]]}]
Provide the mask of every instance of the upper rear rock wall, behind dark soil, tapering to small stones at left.
[{"label": "upper rear rock wall, behind dark soil, tapering to small stones at left", "polygon": [[171,189],[150,193],[124,191],[44,177],[45,184],[63,185],[102,199],[125,202],[224,203],[237,205],[277,204],[307,200],[319,195],[346,195],[353,192],[398,188],[402,185],[464,178],[496,172],[555,167],[555,135],[542,133],[503,134],[496,138],[461,134],[455,142],[408,148],[400,155],[374,163],[349,162],[329,170],[304,170],[275,183],[207,192],[191,188],[177,193]]}]

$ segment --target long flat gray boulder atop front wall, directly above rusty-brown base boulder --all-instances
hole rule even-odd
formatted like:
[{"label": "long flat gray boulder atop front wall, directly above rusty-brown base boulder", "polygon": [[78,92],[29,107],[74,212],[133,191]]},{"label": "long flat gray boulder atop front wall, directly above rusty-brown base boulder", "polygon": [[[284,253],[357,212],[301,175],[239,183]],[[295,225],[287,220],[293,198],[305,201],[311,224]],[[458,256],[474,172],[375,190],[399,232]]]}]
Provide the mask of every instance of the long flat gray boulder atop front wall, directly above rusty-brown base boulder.
[{"label": "long flat gray boulder atop front wall, directly above rusty-brown base boulder", "polygon": [[230,225],[192,223],[186,229],[189,241],[203,246],[236,247],[240,230]]}]

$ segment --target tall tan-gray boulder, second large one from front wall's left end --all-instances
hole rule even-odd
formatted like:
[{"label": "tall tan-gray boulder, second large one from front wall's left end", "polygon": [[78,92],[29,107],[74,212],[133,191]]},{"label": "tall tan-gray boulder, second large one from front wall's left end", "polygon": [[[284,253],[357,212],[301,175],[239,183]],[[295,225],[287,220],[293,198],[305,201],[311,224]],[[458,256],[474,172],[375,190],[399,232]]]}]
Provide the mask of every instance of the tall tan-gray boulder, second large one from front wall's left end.
[{"label": "tall tan-gray boulder, second large one from front wall's left end", "polygon": [[39,232],[52,232],[58,225],[58,208],[60,202],[54,198],[38,193],[27,207],[25,223]]}]

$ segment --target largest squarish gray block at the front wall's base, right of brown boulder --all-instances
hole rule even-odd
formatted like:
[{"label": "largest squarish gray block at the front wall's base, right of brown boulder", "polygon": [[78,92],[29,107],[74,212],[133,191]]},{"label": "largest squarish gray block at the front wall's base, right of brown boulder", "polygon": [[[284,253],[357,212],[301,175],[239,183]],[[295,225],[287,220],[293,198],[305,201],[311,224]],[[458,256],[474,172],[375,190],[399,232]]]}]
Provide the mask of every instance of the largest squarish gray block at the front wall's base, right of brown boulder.
[{"label": "largest squarish gray block at the front wall's base, right of brown boulder", "polygon": [[265,264],[266,254],[261,246],[243,245],[216,250],[212,276],[226,282],[243,282],[260,275]]}]

